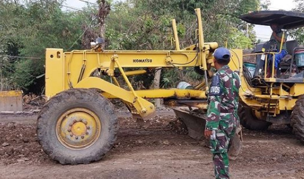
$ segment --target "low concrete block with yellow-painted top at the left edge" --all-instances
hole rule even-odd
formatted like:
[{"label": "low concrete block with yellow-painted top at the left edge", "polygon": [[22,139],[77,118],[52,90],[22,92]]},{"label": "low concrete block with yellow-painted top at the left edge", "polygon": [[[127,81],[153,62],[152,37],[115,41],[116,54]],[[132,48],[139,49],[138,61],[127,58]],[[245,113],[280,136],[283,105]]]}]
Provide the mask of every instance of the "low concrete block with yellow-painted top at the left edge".
[{"label": "low concrete block with yellow-painted top at the left edge", "polygon": [[22,91],[0,91],[0,111],[22,110]]}]

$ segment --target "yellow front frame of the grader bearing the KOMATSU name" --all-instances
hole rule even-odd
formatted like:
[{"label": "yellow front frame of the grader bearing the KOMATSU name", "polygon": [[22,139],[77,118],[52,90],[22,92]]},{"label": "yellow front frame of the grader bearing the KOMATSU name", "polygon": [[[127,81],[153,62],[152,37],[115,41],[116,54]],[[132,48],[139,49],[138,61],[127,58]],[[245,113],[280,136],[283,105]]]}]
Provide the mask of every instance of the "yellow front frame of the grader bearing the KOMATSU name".
[{"label": "yellow front frame of the grader bearing the KOMATSU name", "polygon": [[[176,99],[206,99],[205,91],[183,89],[157,89],[135,91],[127,76],[147,73],[147,70],[125,72],[126,67],[172,68],[199,66],[207,73],[207,64],[212,63],[212,52],[218,47],[216,42],[204,43],[200,9],[195,10],[198,18],[199,44],[179,50],[149,51],[149,50],[73,50],[63,52],[63,49],[47,49],[46,51],[46,96],[51,97],[70,88],[97,88],[106,98],[119,98],[133,113],[141,117],[149,117],[154,113],[154,105],[144,98],[176,98]],[[175,20],[173,20],[175,24]],[[177,39],[176,25],[173,26]],[[56,66],[56,68],[50,68]],[[129,91],[121,88],[114,75],[114,69],[119,69]],[[110,83],[91,74],[99,72],[111,77]],[[207,76],[207,75],[205,75]],[[205,80],[206,81],[206,80]],[[208,89],[208,87],[207,87]]]}]

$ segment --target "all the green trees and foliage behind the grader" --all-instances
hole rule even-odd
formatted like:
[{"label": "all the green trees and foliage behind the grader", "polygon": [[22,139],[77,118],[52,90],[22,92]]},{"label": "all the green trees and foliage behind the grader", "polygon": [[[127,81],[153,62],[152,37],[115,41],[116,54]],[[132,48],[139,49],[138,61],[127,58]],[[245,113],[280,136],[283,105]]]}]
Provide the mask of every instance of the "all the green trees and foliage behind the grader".
[{"label": "all the green trees and foliage behind the grader", "polygon": [[[98,9],[95,6],[88,5],[83,11],[63,11],[63,1],[0,1],[0,55],[36,57],[9,57],[5,68],[1,68],[2,79],[7,79],[6,85],[22,89],[38,85],[36,76],[44,73],[46,48],[81,49],[81,35],[85,30],[83,25],[98,31],[98,21],[95,18]],[[218,42],[223,46],[227,39],[230,48],[251,48],[251,42],[255,41],[253,26],[249,25],[248,35],[244,35],[247,25],[238,16],[267,8],[267,4],[261,5],[260,0],[108,2],[112,6],[105,21],[107,49],[174,49],[174,44],[171,44],[173,18],[177,21],[181,48],[195,44],[195,8],[202,9],[206,42]],[[161,86],[166,88],[174,87],[181,79],[202,79],[202,76],[189,68],[183,71],[166,69],[161,76]],[[153,75],[149,75],[131,80],[139,84],[138,88],[148,88],[152,79]]]}]

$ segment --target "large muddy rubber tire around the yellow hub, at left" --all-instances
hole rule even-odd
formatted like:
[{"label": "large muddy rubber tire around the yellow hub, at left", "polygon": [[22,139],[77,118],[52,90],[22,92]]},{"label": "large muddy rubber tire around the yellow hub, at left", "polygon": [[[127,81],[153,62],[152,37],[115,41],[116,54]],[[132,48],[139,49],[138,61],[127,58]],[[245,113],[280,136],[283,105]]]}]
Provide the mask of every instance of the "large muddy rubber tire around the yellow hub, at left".
[{"label": "large muddy rubber tire around the yellow hub, at left", "polygon": [[[64,146],[56,135],[58,118],[67,110],[92,111],[101,123],[100,135],[84,149]],[[68,89],[53,96],[42,108],[37,120],[37,137],[43,151],[60,164],[89,164],[100,160],[117,138],[118,117],[112,103],[93,89]]]}]

